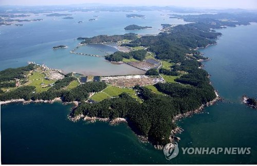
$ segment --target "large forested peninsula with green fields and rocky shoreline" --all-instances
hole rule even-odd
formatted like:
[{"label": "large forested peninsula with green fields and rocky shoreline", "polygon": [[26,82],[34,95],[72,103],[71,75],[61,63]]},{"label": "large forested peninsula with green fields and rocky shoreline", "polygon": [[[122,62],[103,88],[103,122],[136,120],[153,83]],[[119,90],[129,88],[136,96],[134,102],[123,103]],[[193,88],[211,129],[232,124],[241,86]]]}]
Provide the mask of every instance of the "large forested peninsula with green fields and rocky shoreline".
[{"label": "large forested peninsula with green fields and rocky shoreline", "polygon": [[[254,14],[247,17],[247,21],[244,14],[176,17],[193,23],[177,25],[157,35],[126,33],[78,38],[83,40],[80,45],[117,42],[130,48],[129,52],[117,51],[105,59],[140,68],[145,75],[94,78],[68,73],[64,76],[59,71],[53,73],[53,69],[32,63],[0,71],[0,100],[6,103],[57,99],[75,102],[70,120],[126,122],[140,139],[162,149],[167,143],[179,140],[175,136],[181,131],[176,124],[178,119],[200,113],[205,106],[220,100],[209,73],[202,68],[201,60],[206,57],[198,50],[216,44],[216,39],[222,35],[212,29],[257,22]],[[224,18],[229,21],[221,21]],[[35,77],[42,79],[42,85],[33,82]],[[51,81],[47,82],[47,87],[43,78]],[[256,105],[253,98],[246,102]]]}]

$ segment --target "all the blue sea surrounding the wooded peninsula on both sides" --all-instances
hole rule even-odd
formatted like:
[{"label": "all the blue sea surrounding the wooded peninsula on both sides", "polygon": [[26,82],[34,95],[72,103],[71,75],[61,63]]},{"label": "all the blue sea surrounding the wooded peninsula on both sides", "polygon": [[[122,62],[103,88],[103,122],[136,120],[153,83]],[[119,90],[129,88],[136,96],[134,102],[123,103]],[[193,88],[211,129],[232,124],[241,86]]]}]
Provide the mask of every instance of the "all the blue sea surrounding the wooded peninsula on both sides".
[{"label": "all the blue sea surrounding the wooded peninsula on both sides", "polygon": [[[104,58],[69,53],[79,36],[123,34],[130,24],[152,26],[132,31],[156,34],[160,24],[186,24],[161,11],[134,12],[145,19],[127,18],[131,12],[76,12],[73,20],[43,18],[24,26],[0,26],[0,69],[45,63],[65,72],[91,75],[132,74],[138,70],[114,65]],[[94,22],[88,22],[99,15]],[[84,21],[78,24],[78,21]],[[201,114],[177,122],[179,153],[167,160],[161,150],[143,143],[126,123],[88,123],[68,120],[71,104],[60,102],[1,105],[1,159],[3,164],[253,164],[257,163],[257,111],[241,103],[242,95],[257,98],[257,24],[218,29],[217,45],[200,51],[211,61],[204,69],[223,101]],[[56,45],[67,49],[52,50]],[[105,46],[104,46],[105,47]],[[113,49],[113,47],[110,48]],[[83,49],[82,49],[83,50]],[[119,71],[119,73],[117,73]],[[140,72],[139,72],[140,73]],[[183,154],[181,147],[250,147],[250,154]]]}]

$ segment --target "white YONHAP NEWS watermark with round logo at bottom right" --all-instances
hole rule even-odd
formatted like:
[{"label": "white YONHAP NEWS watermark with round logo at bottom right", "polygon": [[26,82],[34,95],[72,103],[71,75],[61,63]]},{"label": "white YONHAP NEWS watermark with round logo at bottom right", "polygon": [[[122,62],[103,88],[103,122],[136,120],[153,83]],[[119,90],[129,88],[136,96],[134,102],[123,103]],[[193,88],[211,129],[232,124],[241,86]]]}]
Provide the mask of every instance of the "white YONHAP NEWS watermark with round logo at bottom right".
[{"label": "white YONHAP NEWS watermark with round logo at bottom right", "polygon": [[178,153],[183,155],[249,155],[251,147],[181,147],[179,150],[178,143],[168,143],[163,148],[163,153],[167,160],[177,157]]}]

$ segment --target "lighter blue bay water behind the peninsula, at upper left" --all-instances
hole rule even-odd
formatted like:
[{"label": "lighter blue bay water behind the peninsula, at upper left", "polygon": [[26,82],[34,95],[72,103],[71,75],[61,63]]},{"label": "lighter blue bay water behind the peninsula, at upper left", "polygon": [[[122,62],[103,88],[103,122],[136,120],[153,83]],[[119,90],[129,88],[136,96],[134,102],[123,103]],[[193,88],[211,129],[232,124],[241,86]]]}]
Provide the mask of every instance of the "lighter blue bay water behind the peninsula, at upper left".
[{"label": "lighter blue bay water behind the peninsula, at upper left", "polygon": [[[92,37],[100,34],[157,34],[161,24],[186,24],[183,20],[169,19],[163,12],[133,12],[145,15],[145,19],[128,18],[126,14],[132,12],[66,12],[72,14],[74,19],[62,19],[62,17],[49,17],[44,14],[30,16],[26,19],[44,19],[40,22],[22,22],[24,26],[0,26],[0,69],[24,66],[28,61],[38,64],[45,63],[48,67],[58,68],[64,72],[76,71],[84,75],[108,76],[140,74],[144,71],[126,64],[114,65],[104,60],[89,56],[79,56],[69,53],[81,41],[80,36]],[[164,13],[167,14],[167,13]],[[89,22],[95,18],[96,21]],[[83,23],[78,24],[78,21]],[[152,26],[151,29],[124,30],[130,24],[140,26]],[[66,45],[66,49],[52,50],[53,46]],[[106,47],[106,46],[104,46]],[[97,49],[82,48],[82,50],[100,54]],[[115,51],[107,48],[109,53]],[[83,53],[87,53],[83,52]]]}]

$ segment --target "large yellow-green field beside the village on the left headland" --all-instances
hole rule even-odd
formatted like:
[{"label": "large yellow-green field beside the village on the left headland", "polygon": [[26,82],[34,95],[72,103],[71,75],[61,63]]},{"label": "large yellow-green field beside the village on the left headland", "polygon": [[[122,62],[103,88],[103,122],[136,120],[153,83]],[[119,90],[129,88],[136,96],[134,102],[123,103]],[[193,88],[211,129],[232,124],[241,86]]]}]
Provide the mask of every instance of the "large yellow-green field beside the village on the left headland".
[{"label": "large yellow-green field beside the village on the left headland", "polygon": [[28,85],[35,86],[35,91],[37,93],[41,93],[42,91],[48,90],[51,86],[49,86],[49,87],[44,87],[44,86],[56,82],[54,80],[45,80],[44,79],[45,85],[41,85],[42,79],[45,77],[45,75],[41,72],[32,72],[32,73],[33,73],[33,75],[28,76],[28,80],[30,81],[30,83]]}]

